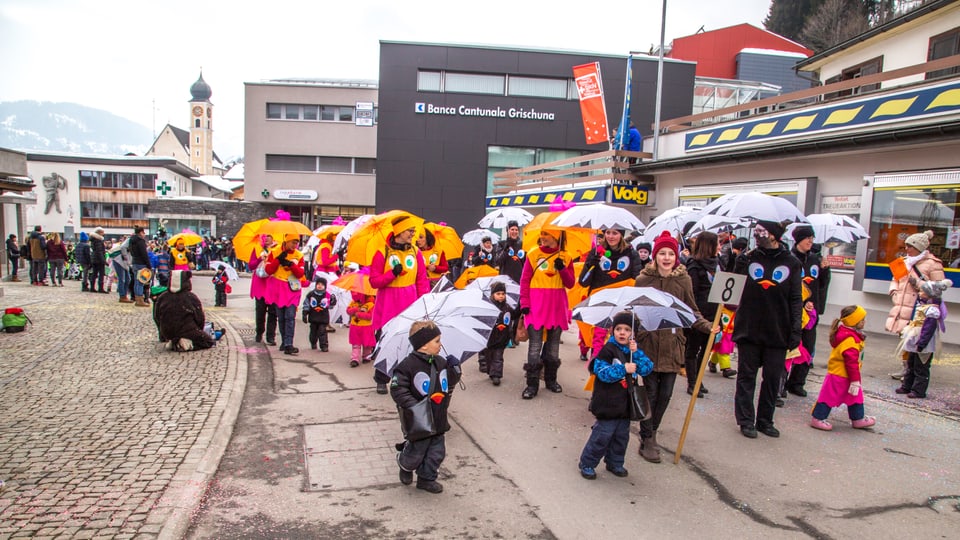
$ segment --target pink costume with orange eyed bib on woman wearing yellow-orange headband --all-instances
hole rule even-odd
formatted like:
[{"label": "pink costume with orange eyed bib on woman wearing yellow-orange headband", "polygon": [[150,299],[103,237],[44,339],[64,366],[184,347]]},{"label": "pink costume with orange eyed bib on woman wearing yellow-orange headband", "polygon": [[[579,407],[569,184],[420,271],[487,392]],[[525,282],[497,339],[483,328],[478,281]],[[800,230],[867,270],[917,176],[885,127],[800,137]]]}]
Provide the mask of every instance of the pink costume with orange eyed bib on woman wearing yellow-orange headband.
[{"label": "pink costume with orange eyed bib on woman wearing yellow-orange headband", "polygon": [[[420,250],[412,246],[407,249],[388,246],[386,253],[378,251],[370,263],[370,285],[377,289],[371,325],[373,332],[383,328],[417,298],[430,292],[427,265],[423,262]],[[392,264],[387,266],[393,261],[403,267],[399,276],[393,275]]]}]

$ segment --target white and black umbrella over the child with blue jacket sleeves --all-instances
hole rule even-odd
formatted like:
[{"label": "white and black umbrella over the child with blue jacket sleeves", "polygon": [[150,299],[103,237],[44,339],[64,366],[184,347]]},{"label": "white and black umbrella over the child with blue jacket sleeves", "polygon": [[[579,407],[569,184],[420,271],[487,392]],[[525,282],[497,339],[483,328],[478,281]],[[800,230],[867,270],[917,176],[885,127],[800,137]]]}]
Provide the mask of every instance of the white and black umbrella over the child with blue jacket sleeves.
[{"label": "white and black umbrella over the child with blue jacket sleeves", "polygon": [[573,308],[573,320],[609,328],[621,311],[632,311],[643,330],[689,328],[696,320],[690,306],[652,287],[618,287],[591,294]]}]

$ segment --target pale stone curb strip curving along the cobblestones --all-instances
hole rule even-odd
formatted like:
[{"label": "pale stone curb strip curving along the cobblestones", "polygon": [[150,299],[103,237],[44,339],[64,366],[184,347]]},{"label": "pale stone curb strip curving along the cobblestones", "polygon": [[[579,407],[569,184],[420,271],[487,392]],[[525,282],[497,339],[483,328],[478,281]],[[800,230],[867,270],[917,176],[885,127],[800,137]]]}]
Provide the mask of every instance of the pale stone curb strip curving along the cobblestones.
[{"label": "pale stone curb strip curving along the cobblestones", "polygon": [[236,346],[229,349],[227,375],[211,411],[211,419],[207,422],[212,423],[213,416],[219,412],[216,425],[205,426],[200,432],[184,459],[183,466],[177,470],[170,481],[157,509],[147,518],[147,523],[163,524],[158,536],[161,540],[178,540],[183,538],[189,530],[190,520],[198,510],[207,487],[217,472],[220,459],[226,453],[227,445],[233,436],[233,428],[240,414],[240,405],[243,403],[243,394],[247,385],[246,354],[240,354],[243,339],[222,317],[211,316],[210,318],[215,318],[220,323],[229,334],[230,342],[235,343]]}]

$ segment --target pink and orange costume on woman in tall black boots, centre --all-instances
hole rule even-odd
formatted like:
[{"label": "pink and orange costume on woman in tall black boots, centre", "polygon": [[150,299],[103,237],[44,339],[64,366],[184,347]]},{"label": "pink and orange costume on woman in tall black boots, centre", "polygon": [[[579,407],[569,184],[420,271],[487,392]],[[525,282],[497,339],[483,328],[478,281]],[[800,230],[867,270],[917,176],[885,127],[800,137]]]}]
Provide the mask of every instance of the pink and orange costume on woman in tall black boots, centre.
[{"label": "pink and orange costume on woman in tall black boots, centre", "polygon": [[[558,257],[564,257],[563,270],[554,266]],[[567,291],[576,284],[573,263],[557,249],[534,248],[527,254],[520,275],[520,307],[530,308],[523,316],[527,326],[534,329],[561,328],[570,322]]]}]

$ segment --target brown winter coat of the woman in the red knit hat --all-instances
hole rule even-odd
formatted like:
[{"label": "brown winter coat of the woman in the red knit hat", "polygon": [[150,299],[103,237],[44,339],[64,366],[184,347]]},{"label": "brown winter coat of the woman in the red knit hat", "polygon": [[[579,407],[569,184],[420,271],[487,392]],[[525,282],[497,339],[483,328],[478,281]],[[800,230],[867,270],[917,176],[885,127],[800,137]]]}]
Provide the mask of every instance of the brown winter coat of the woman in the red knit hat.
[{"label": "brown winter coat of the woman in the red knit hat", "polygon": [[[693,297],[693,282],[687,274],[685,266],[678,265],[670,275],[663,277],[657,272],[656,264],[648,264],[640,272],[635,283],[637,287],[653,287],[654,289],[670,293],[684,304],[690,306],[697,315],[693,328],[704,334],[710,333],[711,321],[700,315],[697,301]],[[687,338],[683,329],[654,330],[653,332],[640,331],[637,334],[637,347],[653,360],[653,370],[662,373],[679,373],[683,367],[683,351]]]}]

